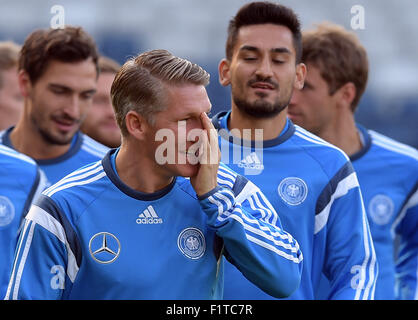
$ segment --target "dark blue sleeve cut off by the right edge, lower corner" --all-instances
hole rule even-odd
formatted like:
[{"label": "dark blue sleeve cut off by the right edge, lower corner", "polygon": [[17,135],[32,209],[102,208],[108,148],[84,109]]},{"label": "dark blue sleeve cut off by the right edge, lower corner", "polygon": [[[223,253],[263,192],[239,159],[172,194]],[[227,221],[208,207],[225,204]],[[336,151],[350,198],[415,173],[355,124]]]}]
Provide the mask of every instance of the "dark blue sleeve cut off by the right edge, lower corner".
[{"label": "dark blue sleeve cut off by the right edge, lower corner", "polygon": [[418,300],[418,191],[410,197],[397,225],[399,254],[396,263],[396,298]]}]

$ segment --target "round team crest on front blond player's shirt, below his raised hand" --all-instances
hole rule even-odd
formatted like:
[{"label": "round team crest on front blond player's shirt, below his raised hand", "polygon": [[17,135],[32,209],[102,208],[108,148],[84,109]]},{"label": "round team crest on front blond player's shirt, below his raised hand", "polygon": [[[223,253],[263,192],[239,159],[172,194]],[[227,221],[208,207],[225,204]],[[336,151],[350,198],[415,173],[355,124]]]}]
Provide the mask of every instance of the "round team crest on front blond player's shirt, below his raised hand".
[{"label": "round team crest on front blond player's shirt, below his raised hand", "polygon": [[206,251],[205,236],[197,228],[186,228],[177,238],[177,246],[187,258],[200,259]]}]

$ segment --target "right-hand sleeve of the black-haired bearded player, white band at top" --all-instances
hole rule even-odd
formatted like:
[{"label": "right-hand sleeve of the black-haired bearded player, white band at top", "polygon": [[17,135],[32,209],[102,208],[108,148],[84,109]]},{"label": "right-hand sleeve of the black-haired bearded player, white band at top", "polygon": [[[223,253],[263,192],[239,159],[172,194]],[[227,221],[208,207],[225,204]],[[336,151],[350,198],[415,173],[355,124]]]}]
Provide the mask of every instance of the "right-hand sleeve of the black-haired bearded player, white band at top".
[{"label": "right-hand sleeve of the black-haired bearded player, white band at top", "polygon": [[372,300],[378,275],[363,198],[351,163],[334,176],[323,192],[315,233],[326,230],[324,274],[329,299]]}]

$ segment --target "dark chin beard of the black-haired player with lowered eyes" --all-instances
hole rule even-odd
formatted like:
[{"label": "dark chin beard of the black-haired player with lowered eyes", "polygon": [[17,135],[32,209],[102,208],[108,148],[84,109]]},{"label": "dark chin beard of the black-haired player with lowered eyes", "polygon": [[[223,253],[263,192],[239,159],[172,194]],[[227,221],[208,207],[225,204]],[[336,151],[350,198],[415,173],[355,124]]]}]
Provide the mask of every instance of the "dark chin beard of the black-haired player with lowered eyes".
[{"label": "dark chin beard of the black-haired player with lowered eyes", "polygon": [[233,100],[239,110],[258,119],[273,118],[282,112],[283,109],[285,109],[290,103],[290,98],[285,103],[280,103],[279,100],[276,100],[274,103],[270,103],[263,99],[258,99],[251,103],[236,96],[233,96]]}]

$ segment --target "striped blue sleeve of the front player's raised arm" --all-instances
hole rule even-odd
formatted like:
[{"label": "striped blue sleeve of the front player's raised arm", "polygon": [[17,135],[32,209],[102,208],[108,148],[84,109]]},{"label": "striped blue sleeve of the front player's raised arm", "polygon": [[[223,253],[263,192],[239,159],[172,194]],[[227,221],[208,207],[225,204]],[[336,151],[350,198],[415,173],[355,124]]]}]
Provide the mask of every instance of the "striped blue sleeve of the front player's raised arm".
[{"label": "striped blue sleeve of the front player's raised arm", "polygon": [[277,213],[252,182],[221,167],[218,183],[200,203],[223,239],[226,257],[267,294],[289,296],[301,278],[298,243],[282,230]]}]

